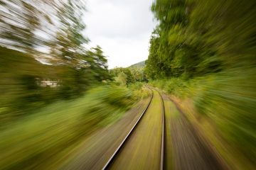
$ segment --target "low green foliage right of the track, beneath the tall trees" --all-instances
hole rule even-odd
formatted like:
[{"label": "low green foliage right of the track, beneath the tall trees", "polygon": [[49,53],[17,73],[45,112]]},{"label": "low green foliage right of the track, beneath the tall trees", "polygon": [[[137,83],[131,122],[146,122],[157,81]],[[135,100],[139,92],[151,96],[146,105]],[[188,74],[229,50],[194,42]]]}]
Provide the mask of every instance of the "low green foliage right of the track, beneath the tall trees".
[{"label": "low green foliage right of the track, beneath the tall trees", "polygon": [[191,98],[198,113],[210,118],[230,145],[242,150],[253,161],[256,149],[255,82],[244,83],[255,77],[253,74],[242,75],[234,70],[234,73],[223,72],[190,80],[161,79],[149,84],[180,98]]}]

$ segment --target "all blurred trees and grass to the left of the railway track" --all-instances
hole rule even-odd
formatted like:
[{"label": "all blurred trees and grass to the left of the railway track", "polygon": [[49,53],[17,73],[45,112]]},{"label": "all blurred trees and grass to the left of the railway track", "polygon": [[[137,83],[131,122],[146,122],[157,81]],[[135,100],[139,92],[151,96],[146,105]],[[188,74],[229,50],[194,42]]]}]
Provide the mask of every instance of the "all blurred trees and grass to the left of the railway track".
[{"label": "all blurred trees and grass to the left of the railway track", "polygon": [[134,81],[127,72],[122,87],[112,85],[104,52],[87,49],[82,35],[82,1],[0,7],[0,169],[56,169],[88,135],[148,95],[127,89]]}]

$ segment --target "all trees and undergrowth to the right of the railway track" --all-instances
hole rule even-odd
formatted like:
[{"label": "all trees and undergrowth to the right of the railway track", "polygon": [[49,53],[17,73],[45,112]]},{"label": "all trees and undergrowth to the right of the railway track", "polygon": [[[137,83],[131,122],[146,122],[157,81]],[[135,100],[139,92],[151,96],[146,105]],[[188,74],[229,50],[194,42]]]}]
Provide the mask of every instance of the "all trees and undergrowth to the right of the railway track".
[{"label": "all trees and undergrowth to the right of the railway track", "polygon": [[[156,0],[146,76],[255,164],[255,1]],[[239,8],[238,8],[239,7]]]}]

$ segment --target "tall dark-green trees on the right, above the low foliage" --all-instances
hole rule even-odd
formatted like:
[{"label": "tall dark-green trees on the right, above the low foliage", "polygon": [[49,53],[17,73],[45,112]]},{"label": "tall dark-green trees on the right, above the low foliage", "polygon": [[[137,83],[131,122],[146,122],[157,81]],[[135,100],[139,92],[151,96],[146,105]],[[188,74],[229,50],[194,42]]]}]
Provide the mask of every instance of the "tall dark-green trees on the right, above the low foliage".
[{"label": "tall dark-green trees on the right, above the low foliage", "polygon": [[255,1],[156,0],[146,72],[198,77],[255,67]]}]

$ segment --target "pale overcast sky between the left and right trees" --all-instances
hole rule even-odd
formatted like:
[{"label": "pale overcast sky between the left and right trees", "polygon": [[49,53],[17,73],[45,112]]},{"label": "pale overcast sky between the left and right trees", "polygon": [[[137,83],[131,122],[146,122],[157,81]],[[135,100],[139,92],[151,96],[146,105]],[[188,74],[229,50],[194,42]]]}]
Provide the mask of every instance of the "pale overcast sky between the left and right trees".
[{"label": "pale overcast sky between the left and right trees", "polygon": [[109,68],[146,60],[156,22],[151,0],[87,0],[85,35],[108,56]]}]

